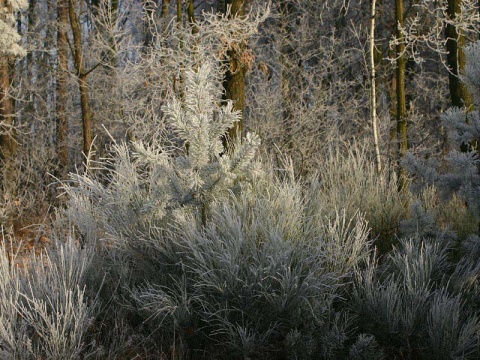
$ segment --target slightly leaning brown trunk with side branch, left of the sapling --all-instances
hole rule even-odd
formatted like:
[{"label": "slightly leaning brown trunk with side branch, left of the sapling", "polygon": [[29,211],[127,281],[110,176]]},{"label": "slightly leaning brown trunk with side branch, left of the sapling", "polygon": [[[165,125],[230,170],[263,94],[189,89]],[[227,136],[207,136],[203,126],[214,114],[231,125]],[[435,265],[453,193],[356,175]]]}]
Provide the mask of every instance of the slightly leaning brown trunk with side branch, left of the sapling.
[{"label": "slightly leaning brown trunk with side branch, left of the sapling", "polygon": [[85,64],[83,62],[82,30],[75,10],[76,0],[69,0],[68,4],[68,14],[74,43],[72,49],[73,60],[77,72],[78,88],[80,91],[80,106],[82,109],[83,152],[85,156],[88,157],[93,143],[93,130],[92,112],[89,104],[87,73],[85,71]]}]

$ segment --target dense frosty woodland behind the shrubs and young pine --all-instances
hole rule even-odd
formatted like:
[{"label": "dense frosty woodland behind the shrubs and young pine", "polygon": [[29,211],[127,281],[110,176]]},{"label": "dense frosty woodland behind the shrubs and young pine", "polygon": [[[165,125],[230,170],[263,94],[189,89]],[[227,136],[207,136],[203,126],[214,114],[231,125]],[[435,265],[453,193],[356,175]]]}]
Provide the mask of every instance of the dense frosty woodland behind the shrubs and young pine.
[{"label": "dense frosty woodland behind the shrubs and young pine", "polygon": [[[386,166],[407,150],[447,151],[440,115],[473,106],[459,74],[463,47],[479,36],[474,1],[378,2],[372,54],[364,1],[277,1],[268,12],[262,1],[15,3],[2,3],[21,48],[2,56],[0,144],[2,218],[20,227],[59,205],[54,178],[82,167],[91,150],[102,157],[115,139],[166,131],[161,108],[184,92],[192,41],[231,68],[223,100],[242,112],[236,132],[255,131],[298,176],[317,169],[329,144],[374,143],[370,55]],[[251,12],[252,24],[210,15],[228,5],[232,23]],[[183,39],[192,36],[201,39]]]}]

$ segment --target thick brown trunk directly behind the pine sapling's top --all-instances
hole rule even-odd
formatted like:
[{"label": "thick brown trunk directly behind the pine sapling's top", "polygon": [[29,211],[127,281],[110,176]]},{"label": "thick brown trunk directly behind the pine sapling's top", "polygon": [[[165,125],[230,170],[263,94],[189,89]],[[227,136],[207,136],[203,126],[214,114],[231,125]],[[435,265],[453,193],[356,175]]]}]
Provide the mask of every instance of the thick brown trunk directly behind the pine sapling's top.
[{"label": "thick brown trunk directly behind the pine sapling's top", "polygon": [[[245,16],[245,0],[226,0],[226,6],[231,6],[229,17]],[[239,44],[239,51],[245,50],[246,44]],[[225,74],[223,87],[225,90],[225,100],[232,100],[235,110],[240,111],[242,117],[232,128],[228,130],[230,140],[235,142],[237,138],[242,137],[243,133],[243,111],[245,108],[245,77],[246,67],[243,66],[238,53],[233,50],[227,51],[228,70]]]}]

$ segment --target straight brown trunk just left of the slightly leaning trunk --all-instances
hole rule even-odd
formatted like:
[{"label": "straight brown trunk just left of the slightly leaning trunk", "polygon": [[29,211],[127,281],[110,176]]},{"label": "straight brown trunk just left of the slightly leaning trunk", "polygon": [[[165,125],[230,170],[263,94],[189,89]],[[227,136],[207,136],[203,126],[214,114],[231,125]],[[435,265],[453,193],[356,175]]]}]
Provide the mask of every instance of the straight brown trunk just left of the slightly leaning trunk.
[{"label": "straight brown trunk just left of the slightly leaning trunk", "polygon": [[65,179],[69,168],[68,116],[67,116],[67,71],[68,71],[68,0],[57,3],[58,18],[58,73],[57,73],[57,155],[59,178]]}]

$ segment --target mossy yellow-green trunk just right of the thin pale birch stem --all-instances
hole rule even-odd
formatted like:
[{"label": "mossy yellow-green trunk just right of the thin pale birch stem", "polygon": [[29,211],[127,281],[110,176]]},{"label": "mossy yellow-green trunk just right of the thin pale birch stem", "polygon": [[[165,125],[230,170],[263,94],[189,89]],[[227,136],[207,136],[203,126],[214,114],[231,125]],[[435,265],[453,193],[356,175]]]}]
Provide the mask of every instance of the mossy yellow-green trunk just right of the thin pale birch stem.
[{"label": "mossy yellow-green trunk just right of the thin pale birch stem", "polygon": [[[406,61],[405,61],[405,40],[401,27],[404,25],[404,9],[403,9],[403,0],[395,0],[395,19],[396,19],[396,29],[395,37],[397,40],[396,45],[396,57],[397,57],[397,68],[395,70],[395,79],[396,79],[396,99],[397,99],[397,111],[396,111],[396,120],[397,120],[397,141],[398,141],[398,156],[397,160],[400,162],[401,159],[405,157],[405,154],[408,150],[408,138],[407,138],[407,105],[405,97],[405,71],[406,71]],[[401,189],[406,187],[407,173],[406,169],[399,164],[399,186]]]}]

